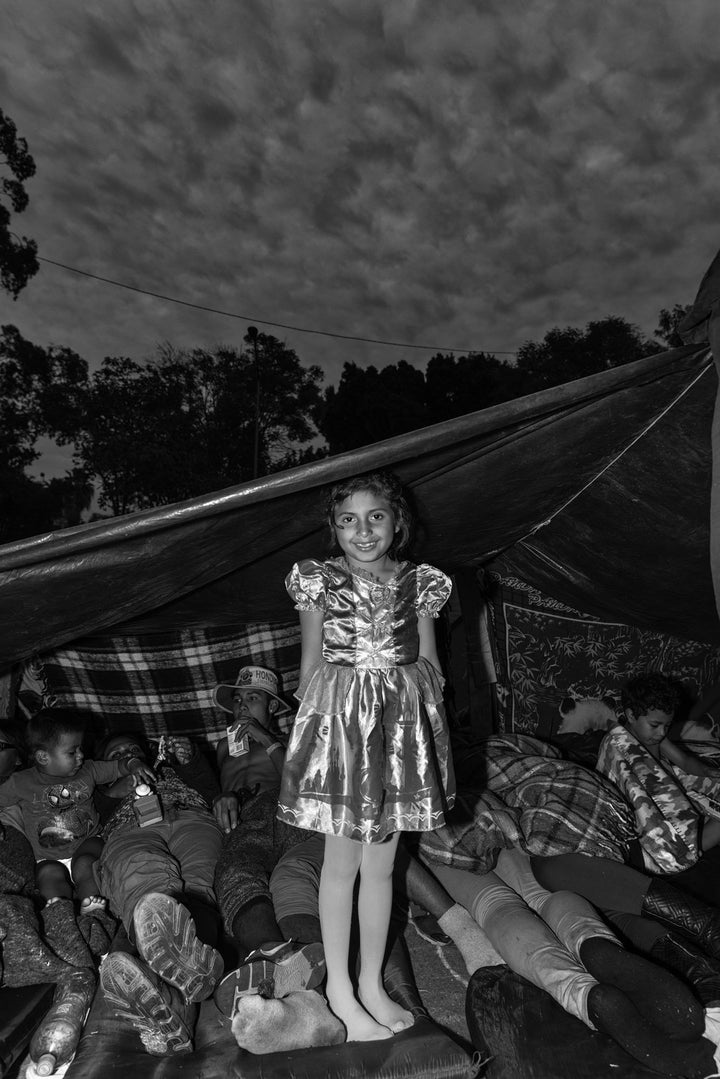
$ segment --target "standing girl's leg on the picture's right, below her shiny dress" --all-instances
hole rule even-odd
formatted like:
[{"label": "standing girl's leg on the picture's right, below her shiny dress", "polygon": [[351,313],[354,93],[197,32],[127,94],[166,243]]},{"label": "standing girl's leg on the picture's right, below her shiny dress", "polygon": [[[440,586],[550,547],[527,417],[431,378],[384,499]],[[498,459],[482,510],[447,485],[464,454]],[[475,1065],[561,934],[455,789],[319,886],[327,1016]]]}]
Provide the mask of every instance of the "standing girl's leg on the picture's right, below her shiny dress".
[{"label": "standing girl's leg on the picture's right, below her shiny dress", "polygon": [[393,864],[399,833],[384,843],[364,843],[357,917],[361,935],[358,996],[370,1015],[393,1034],[412,1026],[412,1014],[388,996],[382,984],[382,960],[393,903]]}]

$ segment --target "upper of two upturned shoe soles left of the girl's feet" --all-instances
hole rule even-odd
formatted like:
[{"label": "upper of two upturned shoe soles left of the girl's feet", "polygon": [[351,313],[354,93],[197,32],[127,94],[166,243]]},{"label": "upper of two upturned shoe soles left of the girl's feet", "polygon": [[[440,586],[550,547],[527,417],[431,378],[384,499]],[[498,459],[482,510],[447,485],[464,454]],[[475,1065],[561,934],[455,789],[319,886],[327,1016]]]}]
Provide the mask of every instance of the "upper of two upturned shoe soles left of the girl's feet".
[{"label": "upper of two upturned shoe soles left of the girl's feet", "polygon": [[209,997],[222,973],[222,959],[198,940],[187,907],[151,891],[133,913],[135,943],[151,970],[180,991],[187,1003]]}]

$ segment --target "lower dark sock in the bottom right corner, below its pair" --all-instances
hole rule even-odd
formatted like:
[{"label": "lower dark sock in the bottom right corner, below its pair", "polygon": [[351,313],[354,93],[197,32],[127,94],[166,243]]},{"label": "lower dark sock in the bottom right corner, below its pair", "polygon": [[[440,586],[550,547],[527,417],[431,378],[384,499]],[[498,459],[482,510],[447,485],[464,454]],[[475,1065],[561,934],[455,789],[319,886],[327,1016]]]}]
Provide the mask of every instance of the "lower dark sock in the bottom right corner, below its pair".
[{"label": "lower dark sock in the bottom right corner, below its pair", "polygon": [[715,1070],[714,1046],[707,1038],[667,1038],[648,1023],[633,1001],[614,985],[594,985],[587,996],[590,1022],[647,1067],[668,1076],[703,1079]]}]

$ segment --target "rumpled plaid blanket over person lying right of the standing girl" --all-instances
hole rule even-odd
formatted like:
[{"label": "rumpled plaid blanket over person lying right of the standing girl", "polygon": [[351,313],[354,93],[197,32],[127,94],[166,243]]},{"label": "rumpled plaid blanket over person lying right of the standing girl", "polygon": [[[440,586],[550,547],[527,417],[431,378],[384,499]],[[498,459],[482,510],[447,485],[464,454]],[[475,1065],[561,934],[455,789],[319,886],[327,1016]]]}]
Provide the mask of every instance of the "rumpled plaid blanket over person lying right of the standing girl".
[{"label": "rumpled plaid blanket over person lying right of the standing girl", "polygon": [[487,873],[510,847],[625,861],[635,818],[602,776],[561,760],[555,747],[528,735],[488,738],[473,762],[477,779],[459,789],[448,823],[420,837],[429,862]]}]

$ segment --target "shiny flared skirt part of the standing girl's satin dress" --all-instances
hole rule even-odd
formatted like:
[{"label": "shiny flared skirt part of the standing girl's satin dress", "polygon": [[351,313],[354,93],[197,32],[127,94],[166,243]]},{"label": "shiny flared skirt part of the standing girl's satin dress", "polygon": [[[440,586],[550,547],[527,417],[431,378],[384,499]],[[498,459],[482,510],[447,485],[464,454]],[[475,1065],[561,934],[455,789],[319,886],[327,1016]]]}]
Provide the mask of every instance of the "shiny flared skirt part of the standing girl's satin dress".
[{"label": "shiny flared skirt part of the standing girl's satin dress", "polygon": [[439,828],[453,801],[443,682],[432,664],[321,663],[287,748],[280,819],[380,843]]}]

